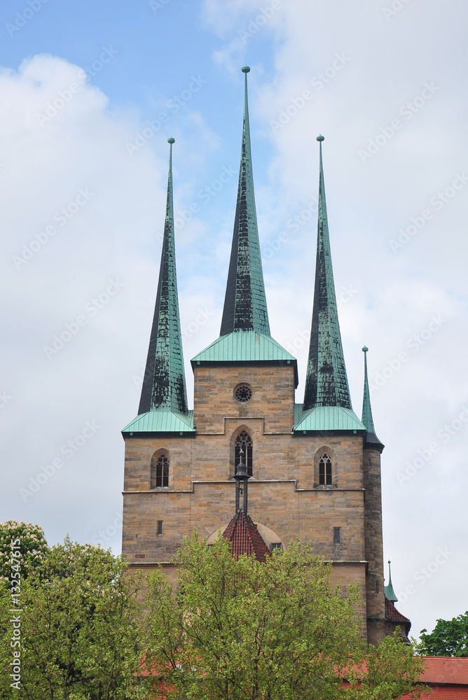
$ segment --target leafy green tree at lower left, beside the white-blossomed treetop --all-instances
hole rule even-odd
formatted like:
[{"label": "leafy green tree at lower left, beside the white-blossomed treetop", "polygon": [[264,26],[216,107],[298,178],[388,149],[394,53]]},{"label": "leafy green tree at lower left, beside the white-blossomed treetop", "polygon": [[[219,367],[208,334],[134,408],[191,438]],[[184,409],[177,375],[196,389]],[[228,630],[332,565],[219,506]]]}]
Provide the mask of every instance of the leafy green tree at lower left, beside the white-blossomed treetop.
[{"label": "leafy green tree at lower left, beside the white-blossomed treetop", "polygon": [[[139,697],[138,585],[110,551],[67,538],[21,585],[21,692],[27,700]],[[12,608],[1,599],[0,698],[11,697]],[[7,670],[8,669],[8,670]]]}]

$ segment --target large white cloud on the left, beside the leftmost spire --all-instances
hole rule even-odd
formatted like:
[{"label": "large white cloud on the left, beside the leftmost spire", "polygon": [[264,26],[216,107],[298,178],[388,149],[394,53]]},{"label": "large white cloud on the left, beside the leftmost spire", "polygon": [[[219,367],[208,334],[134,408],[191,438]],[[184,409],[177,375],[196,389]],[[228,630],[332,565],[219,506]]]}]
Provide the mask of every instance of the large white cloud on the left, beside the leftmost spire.
[{"label": "large white cloud on the left, beside the leftmost spire", "polygon": [[[139,120],[113,111],[64,59],[3,69],[0,94],[4,517],[57,512],[51,541],[62,538],[60,514],[72,537],[85,521],[79,538],[91,540],[121,505],[118,430],[137,407],[132,371],[148,342],[167,164],[151,147],[129,157]],[[88,423],[99,426],[92,440],[80,437]]]}]

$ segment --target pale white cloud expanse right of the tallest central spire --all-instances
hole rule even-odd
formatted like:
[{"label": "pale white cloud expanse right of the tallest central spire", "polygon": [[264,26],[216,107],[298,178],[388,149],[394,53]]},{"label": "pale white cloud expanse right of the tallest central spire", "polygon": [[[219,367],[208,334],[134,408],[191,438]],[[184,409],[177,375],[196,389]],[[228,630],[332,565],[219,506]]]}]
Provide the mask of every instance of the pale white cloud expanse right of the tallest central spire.
[{"label": "pale white cloud expanse right of the tallest central spire", "polygon": [[[289,235],[264,263],[272,327],[283,344],[296,342],[302,381],[307,342],[301,332],[310,323],[315,223],[300,221],[296,230],[292,225],[316,196],[315,137],[319,132],[326,137],[336,287],[357,290],[340,309],[357,412],[364,342],[371,348],[371,378],[384,370],[387,376],[372,400],[376,430],[387,445],[384,544],[397,593],[414,583],[413,574],[432,561],[438,547],[453,550],[443,570],[418,583],[401,604],[418,634],[423,626],[432,629],[436,617],[466,608],[468,426],[453,429],[447,442],[440,435],[443,426],[458,425],[468,405],[468,105],[461,59],[468,10],[411,2],[391,15],[383,11],[389,6],[370,0],[283,2],[280,30],[274,22],[263,29],[273,42],[274,66],[268,80],[250,90],[251,118],[268,131],[273,148],[268,209],[257,198],[262,230],[268,231],[268,243],[282,230]],[[205,3],[224,41],[215,59],[230,70],[242,53],[235,52],[230,37],[257,5],[236,3],[236,11],[222,18],[219,8]],[[255,41],[249,50],[257,57]],[[399,124],[392,127],[393,120]],[[369,150],[371,141],[373,153],[363,160],[359,151]],[[404,245],[392,250],[391,241],[401,235]],[[439,325],[434,318],[441,319]],[[406,360],[397,368],[399,353]],[[440,449],[400,484],[397,473],[433,442]]]}]

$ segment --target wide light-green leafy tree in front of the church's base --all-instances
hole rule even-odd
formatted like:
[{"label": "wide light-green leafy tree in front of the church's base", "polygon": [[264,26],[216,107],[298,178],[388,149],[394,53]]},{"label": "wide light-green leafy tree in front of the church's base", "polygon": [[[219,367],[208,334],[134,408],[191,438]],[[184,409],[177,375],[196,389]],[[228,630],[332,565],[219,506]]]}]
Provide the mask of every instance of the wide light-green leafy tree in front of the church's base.
[{"label": "wide light-green leafy tree in front of the church's base", "polygon": [[[389,700],[413,684],[422,659],[398,634],[378,647],[362,641],[357,587],[345,597],[330,566],[291,542],[266,563],[212,548],[198,535],[149,580],[144,617],[148,687],[178,700]],[[347,685],[343,685],[343,679]]]}]

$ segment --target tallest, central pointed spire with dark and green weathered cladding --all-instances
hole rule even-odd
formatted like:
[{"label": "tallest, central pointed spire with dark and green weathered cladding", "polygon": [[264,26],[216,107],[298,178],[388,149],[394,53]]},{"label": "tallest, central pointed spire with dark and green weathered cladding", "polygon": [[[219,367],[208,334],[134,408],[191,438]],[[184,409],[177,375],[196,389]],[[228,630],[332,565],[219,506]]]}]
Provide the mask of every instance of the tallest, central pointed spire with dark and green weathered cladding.
[{"label": "tallest, central pointed spire with dark and green weathered cladding", "polygon": [[270,335],[265,286],[261,268],[259,232],[256,223],[252,155],[250,152],[249,106],[247,104],[247,73],[244,66],[245,102],[242,150],[235,208],[233,247],[230,252],[228,283],[224,299],[221,336],[235,330],[255,330]]}]

